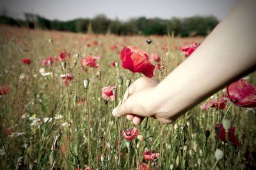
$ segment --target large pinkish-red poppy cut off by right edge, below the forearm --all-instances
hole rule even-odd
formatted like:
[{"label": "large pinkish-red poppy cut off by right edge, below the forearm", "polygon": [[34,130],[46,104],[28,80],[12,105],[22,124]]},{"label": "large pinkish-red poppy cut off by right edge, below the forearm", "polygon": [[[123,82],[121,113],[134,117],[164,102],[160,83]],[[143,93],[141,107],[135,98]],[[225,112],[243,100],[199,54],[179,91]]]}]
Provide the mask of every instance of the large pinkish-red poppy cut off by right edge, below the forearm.
[{"label": "large pinkish-red poppy cut off by right edge, below the forearm", "polygon": [[236,106],[244,108],[256,107],[256,88],[254,85],[240,79],[227,87],[228,98]]}]

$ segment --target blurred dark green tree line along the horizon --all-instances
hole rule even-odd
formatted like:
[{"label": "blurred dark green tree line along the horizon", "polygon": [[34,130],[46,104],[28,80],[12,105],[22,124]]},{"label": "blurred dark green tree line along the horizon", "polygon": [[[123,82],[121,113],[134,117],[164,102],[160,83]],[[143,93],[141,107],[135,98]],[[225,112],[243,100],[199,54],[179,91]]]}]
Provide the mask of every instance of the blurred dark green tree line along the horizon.
[{"label": "blurred dark green tree line along the horizon", "polygon": [[206,36],[214,29],[219,20],[213,16],[194,16],[188,18],[173,17],[169,20],[161,18],[131,18],[127,21],[111,20],[105,15],[94,18],[77,18],[69,21],[49,20],[40,15],[25,13],[24,20],[16,20],[7,16],[0,16],[1,24],[25,26],[31,29],[40,28],[71,32],[93,32],[95,34],[117,35],[164,35],[175,36]]}]

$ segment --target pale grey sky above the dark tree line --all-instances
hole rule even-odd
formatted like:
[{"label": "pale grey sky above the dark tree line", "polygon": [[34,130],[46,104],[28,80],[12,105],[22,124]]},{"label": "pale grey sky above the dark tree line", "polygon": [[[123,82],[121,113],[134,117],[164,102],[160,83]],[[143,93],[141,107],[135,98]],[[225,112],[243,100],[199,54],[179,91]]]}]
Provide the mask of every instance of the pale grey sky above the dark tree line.
[{"label": "pale grey sky above the dark tree line", "polygon": [[51,20],[93,18],[99,14],[119,20],[194,15],[214,15],[221,20],[236,3],[237,0],[0,0],[0,13],[15,18],[35,13]]}]

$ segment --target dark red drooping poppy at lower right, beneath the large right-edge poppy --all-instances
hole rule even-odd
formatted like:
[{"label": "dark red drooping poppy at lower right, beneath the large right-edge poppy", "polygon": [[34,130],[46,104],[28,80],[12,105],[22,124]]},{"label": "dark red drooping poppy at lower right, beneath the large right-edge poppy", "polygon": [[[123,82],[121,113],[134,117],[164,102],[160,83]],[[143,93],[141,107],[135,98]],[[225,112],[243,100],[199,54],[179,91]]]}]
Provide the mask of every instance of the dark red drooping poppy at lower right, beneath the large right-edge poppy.
[{"label": "dark red drooping poppy at lower right, beneath the large right-edge poppy", "polygon": [[[220,124],[216,124],[215,125],[215,133],[216,133],[215,139],[217,139],[219,128],[220,128]],[[239,141],[235,136],[235,131],[236,131],[236,127],[230,127],[230,129],[228,131],[228,140],[231,143],[234,143],[234,145],[239,146]],[[226,130],[224,129],[223,125],[221,125],[221,128],[220,128],[219,139],[221,141],[223,141],[224,143],[228,142],[226,139]]]}]

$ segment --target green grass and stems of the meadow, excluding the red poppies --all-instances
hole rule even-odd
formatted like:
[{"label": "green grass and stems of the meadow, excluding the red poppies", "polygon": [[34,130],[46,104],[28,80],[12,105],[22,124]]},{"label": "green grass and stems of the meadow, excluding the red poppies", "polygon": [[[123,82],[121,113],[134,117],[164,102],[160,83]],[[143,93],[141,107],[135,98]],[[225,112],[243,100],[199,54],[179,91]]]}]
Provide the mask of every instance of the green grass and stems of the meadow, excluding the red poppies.
[{"label": "green grass and stems of the meadow, excluding the red poppies", "polygon": [[[150,38],[153,43],[148,48],[149,55],[153,52],[159,54],[164,64],[164,69],[157,70],[154,77],[159,81],[185,60],[179,50],[184,43],[200,43],[204,40],[169,36]],[[15,169],[19,157],[24,157],[26,164],[36,162],[35,169],[51,169],[51,162],[58,169],[83,169],[86,166],[91,169],[136,169],[140,162],[148,164],[143,160],[146,148],[160,153],[159,159],[152,162],[152,169],[170,169],[172,166],[173,169],[211,169],[216,162],[214,127],[222,121],[227,109],[201,111],[200,106],[196,106],[170,125],[149,118],[143,143],[134,139],[129,143],[130,148],[127,148],[122,131],[134,125],[125,117],[116,119],[111,111],[122,98],[126,89],[125,80],[130,78],[134,81],[142,75],[129,74],[127,77],[118,50],[123,45],[146,50],[146,39],[144,36],[97,37],[93,34],[0,25],[0,85],[12,85],[10,92],[0,98],[0,153],[3,153],[0,154],[0,169]],[[98,44],[93,45],[93,41]],[[90,48],[86,46],[88,43],[91,44]],[[110,50],[111,45],[117,45],[118,50]],[[168,46],[168,52],[162,49],[165,45]],[[51,66],[41,66],[42,59],[58,57],[63,49],[70,52],[65,69],[62,69],[60,61],[54,61]],[[100,66],[87,67],[87,71],[84,71],[80,60],[86,55],[99,55],[97,62]],[[24,57],[31,59],[29,66],[20,61]],[[77,61],[76,66],[74,60]],[[111,62],[119,62],[120,66],[113,67]],[[42,76],[39,73],[42,67],[52,75]],[[68,82],[68,87],[63,87],[60,74],[67,73],[72,74],[74,79]],[[117,76],[122,76],[124,85],[118,86]],[[252,73],[248,81],[255,84],[255,78],[255,73]],[[90,80],[90,84],[84,90],[83,80],[86,79]],[[109,85],[116,87],[118,97],[105,102],[101,89]],[[225,91],[218,92],[214,97],[221,94],[225,94]],[[77,105],[76,97],[84,99],[81,106]],[[230,104],[228,102],[227,106]],[[255,167],[255,111],[233,105],[230,113],[234,117],[233,126],[236,127],[235,134],[241,148],[234,147],[230,142],[223,145],[219,141],[218,148],[225,152],[225,159],[220,160],[217,166],[220,169]],[[62,118],[56,119],[58,115]],[[51,122],[44,122],[46,117],[52,118]],[[119,127],[121,121],[122,127]],[[139,135],[143,135],[143,124],[136,128],[139,129]],[[205,130],[211,132],[207,143]],[[17,134],[21,132],[24,134]],[[119,134],[120,152],[117,152]],[[26,150],[24,143],[28,142],[30,146]],[[119,157],[118,162],[116,155]],[[198,164],[200,160],[202,163]]]}]

